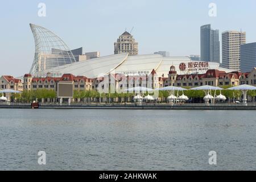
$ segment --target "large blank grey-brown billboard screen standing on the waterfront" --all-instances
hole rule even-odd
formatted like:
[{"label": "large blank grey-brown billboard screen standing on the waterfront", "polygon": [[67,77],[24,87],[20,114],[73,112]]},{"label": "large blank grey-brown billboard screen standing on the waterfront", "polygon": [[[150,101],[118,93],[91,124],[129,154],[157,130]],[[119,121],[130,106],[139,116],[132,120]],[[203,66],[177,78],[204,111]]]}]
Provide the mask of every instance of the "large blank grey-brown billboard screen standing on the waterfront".
[{"label": "large blank grey-brown billboard screen standing on the waterfront", "polygon": [[58,82],[58,98],[73,98],[73,81]]}]

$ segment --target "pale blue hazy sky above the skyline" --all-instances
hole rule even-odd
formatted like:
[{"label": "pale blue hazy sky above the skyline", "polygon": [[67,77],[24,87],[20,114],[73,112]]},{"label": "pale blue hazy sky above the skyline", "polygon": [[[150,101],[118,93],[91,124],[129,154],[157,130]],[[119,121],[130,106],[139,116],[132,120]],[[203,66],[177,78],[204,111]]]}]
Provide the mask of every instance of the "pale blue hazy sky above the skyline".
[{"label": "pale blue hazy sky above the skyline", "polygon": [[[46,16],[38,16],[45,3]],[[216,16],[209,16],[209,4]],[[40,0],[2,1],[0,6],[0,75],[22,76],[34,60],[30,23],[43,26],[69,48],[114,53],[114,42],[125,30],[139,43],[139,54],[168,51],[171,56],[200,55],[200,26],[246,31],[256,42],[255,0]]]}]

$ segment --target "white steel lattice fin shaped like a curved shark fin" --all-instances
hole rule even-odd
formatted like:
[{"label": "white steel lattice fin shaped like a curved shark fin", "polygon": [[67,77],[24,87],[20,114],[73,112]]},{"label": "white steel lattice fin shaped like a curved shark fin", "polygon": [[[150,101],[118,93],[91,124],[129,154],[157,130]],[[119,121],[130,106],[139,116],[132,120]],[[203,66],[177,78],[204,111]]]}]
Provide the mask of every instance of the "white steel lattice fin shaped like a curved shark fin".
[{"label": "white steel lattice fin shaped like a curved shark fin", "polygon": [[68,46],[53,32],[35,24],[30,24],[30,28],[35,40],[31,75],[45,76],[48,69],[76,62]]}]

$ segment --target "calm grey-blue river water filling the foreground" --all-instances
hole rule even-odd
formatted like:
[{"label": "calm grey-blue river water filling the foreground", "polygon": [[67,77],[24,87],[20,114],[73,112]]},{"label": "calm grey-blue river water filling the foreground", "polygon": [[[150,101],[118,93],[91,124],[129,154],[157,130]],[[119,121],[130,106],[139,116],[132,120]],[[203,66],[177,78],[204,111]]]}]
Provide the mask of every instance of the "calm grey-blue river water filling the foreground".
[{"label": "calm grey-blue river water filling the foreground", "polygon": [[10,169],[255,170],[256,111],[0,109],[0,170]]}]

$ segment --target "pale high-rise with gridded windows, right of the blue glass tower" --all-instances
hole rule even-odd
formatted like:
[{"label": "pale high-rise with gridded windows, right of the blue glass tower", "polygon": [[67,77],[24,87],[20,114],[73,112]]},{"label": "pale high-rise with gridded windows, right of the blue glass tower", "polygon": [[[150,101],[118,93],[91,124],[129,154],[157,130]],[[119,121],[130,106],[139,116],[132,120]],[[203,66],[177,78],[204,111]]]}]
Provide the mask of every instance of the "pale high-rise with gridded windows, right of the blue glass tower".
[{"label": "pale high-rise with gridded windows, right of the blue glass tower", "polygon": [[246,43],[246,32],[222,32],[222,67],[240,71],[240,46]]}]

